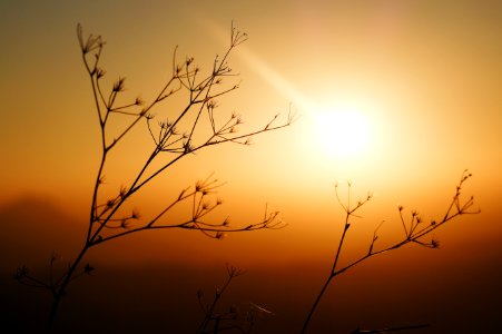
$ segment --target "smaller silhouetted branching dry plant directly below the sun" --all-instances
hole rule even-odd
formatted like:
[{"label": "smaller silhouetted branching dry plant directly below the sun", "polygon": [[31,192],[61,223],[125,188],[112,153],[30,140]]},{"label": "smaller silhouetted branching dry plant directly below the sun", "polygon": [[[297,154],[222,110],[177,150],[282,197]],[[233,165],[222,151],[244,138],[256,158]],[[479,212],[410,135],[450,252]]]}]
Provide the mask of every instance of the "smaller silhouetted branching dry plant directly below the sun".
[{"label": "smaller silhouetted branching dry plant directly below the sun", "polygon": [[[461,190],[462,190],[462,186],[463,184],[471,177],[472,175],[467,171],[464,170],[464,173],[462,174],[462,177],[456,186],[455,189],[455,194],[453,196],[452,202],[450,203],[450,206],[446,209],[445,215],[443,216],[442,219],[440,220],[432,220],[429,223],[423,222],[421,215],[416,212],[416,210],[412,210],[411,212],[411,217],[409,219],[409,223],[405,222],[404,217],[403,217],[403,206],[398,206],[398,213],[400,213],[400,220],[402,223],[403,226],[403,232],[404,232],[404,236],[403,238],[393,244],[392,246],[387,246],[387,247],[383,247],[382,249],[377,249],[375,250],[375,243],[378,239],[378,228],[382,226],[383,223],[381,223],[374,230],[373,233],[373,238],[370,243],[367,253],[363,256],[361,256],[360,258],[356,258],[354,261],[352,261],[351,263],[342,266],[338,268],[338,258],[339,255],[342,254],[342,249],[344,246],[344,240],[345,237],[347,235],[348,229],[351,228],[351,225],[353,223],[352,219],[357,217],[355,214],[356,212],[358,212],[367,202],[370,202],[373,197],[373,195],[371,193],[367,194],[366,198],[364,199],[360,199],[357,200],[355,204],[351,203],[351,183],[347,183],[347,199],[346,199],[346,204],[342,200],[339,194],[338,194],[338,184],[335,185],[335,194],[336,194],[336,198],[338,204],[342,206],[342,209],[345,213],[345,224],[343,227],[343,232],[342,232],[342,237],[338,242],[338,246],[336,248],[336,253],[335,253],[335,258],[333,261],[333,265],[332,268],[329,271],[329,274],[326,278],[326,281],[324,282],[323,287],[321,288],[319,294],[317,295],[316,299],[314,301],[314,304],[312,305],[306,320],[303,324],[302,327],[302,332],[301,333],[305,333],[307,331],[307,327],[311,323],[312,316],[314,315],[314,313],[317,310],[317,306],[321,302],[321,299],[324,296],[324,293],[326,292],[326,288],[328,287],[329,283],[332,283],[332,281],[338,276],[339,274],[345,273],[346,271],[348,271],[350,268],[354,267],[355,265],[375,256],[378,254],[383,254],[390,250],[394,250],[394,249],[398,249],[404,245],[407,244],[417,244],[420,246],[424,246],[427,248],[437,248],[439,247],[439,242],[435,238],[431,238],[430,240],[424,240],[424,238],[426,236],[429,236],[433,230],[435,230],[436,228],[443,226],[444,224],[446,224],[447,222],[462,216],[462,215],[466,215],[466,214],[478,214],[480,213],[480,210],[470,210],[471,207],[474,205],[474,197],[470,197],[469,199],[466,199],[465,202],[461,200]],[[393,328],[393,331],[403,331],[403,330],[413,330],[413,328],[421,328],[427,325],[414,325],[414,326],[405,326],[405,327],[395,327]],[[380,332],[378,332],[380,331]],[[370,331],[362,331],[360,328],[357,328],[354,333],[385,333],[382,332],[384,330],[370,330]],[[388,330],[387,330],[388,332]]]}]

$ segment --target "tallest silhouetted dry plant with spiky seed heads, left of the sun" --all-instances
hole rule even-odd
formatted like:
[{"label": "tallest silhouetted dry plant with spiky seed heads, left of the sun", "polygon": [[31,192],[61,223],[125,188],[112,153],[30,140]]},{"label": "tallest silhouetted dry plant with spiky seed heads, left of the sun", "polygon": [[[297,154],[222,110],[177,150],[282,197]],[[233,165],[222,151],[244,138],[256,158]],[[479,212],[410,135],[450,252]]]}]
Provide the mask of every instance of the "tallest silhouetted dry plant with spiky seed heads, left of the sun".
[{"label": "tallest silhouetted dry plant with spiky seed heads, left of the sun", "polygon": [[[222,116],[216,112],[217,98],[222,98],[238,88],[238,85],[234,84],[226,86],[224,81],[237,76],[228,66],[228,58],[236,47],[246,41],[246,33],[232,26],[230,45],[223,56],[216,56],[207,75],[204,75],[200,68],[195,66],[194,58],[186,58],[178,62],[175,49],[171,76],[159,89],[156,97],[148,102],[141,98],[136,98],[125,104],[119,102],[119,100],[122,100],[121,94],[125,91],[125,78],[119,77],[108,92],[104,88],[102,78],[106,71],[100,67],[100,60],[105,41],[100,36],[89,35],[86,37],[80,24],[77,27],[77,36],[82,61],[90,79],[100,129],[101,157],[93,185],[87,235],[80,252],[62,275],[56,277],[53,274],[56,256],[50,259],[50,278],[48,282],[31,275],[26,267],[18,268],[16,273],[16,278],[22,284],[50,291],[52,306],[48,317],[48,332],[51,332],[53,327],[61,298],[67,293],[68,285],[77,277],[91,274],[95,271],[89,263],[85,263],[86,254],[90,248],[105,242],[154,229],[191,229],[219,239],[230,232],[274,229],[284,226],[283,222],[278,219],[278,213],[270,213],[266,208],[263,218],[244,226],[234,227],[228,219],[223,222],[208,220],[208,215],[223,203],[222,199],[215,198],[215,191],[222,184],[211,176],[197,181],[193,187],[183,189],[151,219],[141,219],[137,209],[125,214],[125,204],[130,205],[132,195],[151,184],[159,175],[165,174],[168,168],[183,158],[204,148],[224,143],[249,145],[253,136],[284,128],[293,122],[294,115],[292,112],[280,124],[277,124],[278,115],[276,115],[264,127],[240,134],[238,129],[243,119],[239,115],[234,112],[222,120]],[[181,96],[185,99],[184,105],[178,109],[178,112],[158,120],[152,111],[174,96]],[[126,118],[126,122],[118,118]],[[104,195],[102,188],[105,169],[109,159],[112,158],[110,153],[116,151],[118,144],[124,141],[126,136],[140,125],[145,125],[146,132],[151,138],[151,150],[132,179],[121,186],[115,196],[107,197]],[[118,134],[115,132],[114,135],[111,134],[112,128],[120,129]],[[190,216],[183,222],[166,219],[166,214],[183,203],[190,204]]]}]

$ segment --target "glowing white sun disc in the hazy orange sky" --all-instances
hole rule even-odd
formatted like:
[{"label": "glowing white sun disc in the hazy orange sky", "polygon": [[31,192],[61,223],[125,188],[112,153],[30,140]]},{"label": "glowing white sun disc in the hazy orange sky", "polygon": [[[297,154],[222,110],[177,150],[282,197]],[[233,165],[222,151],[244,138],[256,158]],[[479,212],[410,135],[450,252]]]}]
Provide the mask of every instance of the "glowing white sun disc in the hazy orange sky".
[{"label": "glowing white sun disc in the hazy orange sky", "polygon": [[370,121],[357,108],[333,107],[315,112],[319,148],[335,158],[364,155],[370,141]]}]

